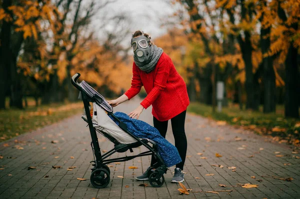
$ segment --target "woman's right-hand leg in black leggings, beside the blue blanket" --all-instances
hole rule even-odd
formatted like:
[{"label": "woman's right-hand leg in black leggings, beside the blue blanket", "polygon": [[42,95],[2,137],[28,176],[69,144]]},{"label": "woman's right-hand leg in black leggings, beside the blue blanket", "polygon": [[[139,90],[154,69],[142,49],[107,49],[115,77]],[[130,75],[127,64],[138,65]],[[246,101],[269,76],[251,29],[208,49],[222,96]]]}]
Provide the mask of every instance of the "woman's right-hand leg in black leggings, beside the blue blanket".
[{"label": "woman's right-hand leg in black leggings, beside the blue blanket", "polygon": [[181,170],[183,170],[187,149],[187,141],[184,131],[185,114],[186,110],[171,119],[175,147],[177,148],[180,158],[182,160],[182,162],[177,164],[176,167]]}]

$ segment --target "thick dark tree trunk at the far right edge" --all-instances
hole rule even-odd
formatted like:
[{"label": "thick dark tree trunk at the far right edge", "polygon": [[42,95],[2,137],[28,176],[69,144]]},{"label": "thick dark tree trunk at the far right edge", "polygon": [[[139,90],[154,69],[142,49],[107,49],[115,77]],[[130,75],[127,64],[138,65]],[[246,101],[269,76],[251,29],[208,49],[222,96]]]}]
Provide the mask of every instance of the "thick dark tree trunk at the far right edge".
[{"label": "thick dark tree trunk at the far right edge", "polygon": [[297,67],[297,49],[293,47],[292,43],[290,43],[285,59],[285,117],[299,118],[299,78],[299,71]]}]

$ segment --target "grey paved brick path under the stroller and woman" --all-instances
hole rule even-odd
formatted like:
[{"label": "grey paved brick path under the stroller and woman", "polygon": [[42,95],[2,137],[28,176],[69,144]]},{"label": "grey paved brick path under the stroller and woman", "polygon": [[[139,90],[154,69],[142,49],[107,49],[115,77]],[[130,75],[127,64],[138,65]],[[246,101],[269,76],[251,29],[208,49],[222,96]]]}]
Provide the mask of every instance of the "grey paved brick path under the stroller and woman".
[{"label": "grey paved brick path under the stroller and woman", "polygon": [[[129,113],[138,102],[139,99],[132,99],[119,105],[114,111]],[[144,110],[140,119],[152,125],[150,108]],[[169,128],[167,139],[173,143],[170,130]],[[134,178],[147,168],[149,156],[121,162],[119,165],[110,164],[113,166],[110,167],[110,184],[105,189],[93,188],[89,182],[91,173],[89,161],[93,160],[91,139],[86,124],[81,120],[80,115],[76,115],[0,143],[0,155],[3,156],[3,159],[0,159],[0,199],[299,198],[300,159],[296,159],[295,156],[300,154],[292,154],[289,146],[270,143],[269,140],[251,132],[236,130],[226,125],[219,126],[216,122],[191,114],[186,118],[186,136],[188,151],[183,184],[186,188],[192,189],[188,196],[179,195],[177,191],[179,186],[170,183],[174,167],[170,168],[165,175],[165,184],[162,187],[138,186],[142,182],[135,181]],[[98,135],[98,139],[101,150],[112,148],[112,143],[101,135]],[[53,144],[51,141],[58,142]],[[4,147],[5,143],[9,146]],[[136,148],[133,154],[141,151],[144,151],[143,147]],[[215,157],[215,153],[219,153],[222,157]],[[111,158],[123,155],[131,155],[131,153],[117,153]],[[249,158],[252,155],[254,157]],[[276,155],[284,156],[276,157]],[[200,159],[201,157],[206,159]],[[52,169],[51,166],[62,168]],[[72,166],[76,168],[67,171],[67,168]],[[138,169],[128,169],[129,166]],[[27,170],[28,167],[36,167],[36,169]],[[236,167],[235,172],[227,167]],[[206,176],[206,174],[214,175]],[[252,176],[256,179],[252,179]],[[287,182],[273,179],[272,176],[292,177],[293,180]],[[86,181],[79,181],[77,178],[84,178]],[[258,188],[236,187],[237,184],[246,183],[256,184]],[[219,184],[227,187],[221,188]],[[129,187],[125,188],[125,186]],[[232,192],[199,193],[220,190],[232,190]]]}]

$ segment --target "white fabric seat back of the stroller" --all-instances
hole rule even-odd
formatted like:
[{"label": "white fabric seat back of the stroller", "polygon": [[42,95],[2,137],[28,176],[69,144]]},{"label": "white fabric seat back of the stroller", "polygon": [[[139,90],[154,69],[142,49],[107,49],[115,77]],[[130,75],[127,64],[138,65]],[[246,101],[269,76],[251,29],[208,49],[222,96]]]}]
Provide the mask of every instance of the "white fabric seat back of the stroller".
[{"label": "white fabric seat back of the stroller", "polygon": [[121,144],[130,144],[137,142],[134,138],[132,138],[121,128],[119,128],[112,121],[112,119],[109,118],[105,111],[96,103],[93,103],[92,123],[94,128],[107,133]]}]

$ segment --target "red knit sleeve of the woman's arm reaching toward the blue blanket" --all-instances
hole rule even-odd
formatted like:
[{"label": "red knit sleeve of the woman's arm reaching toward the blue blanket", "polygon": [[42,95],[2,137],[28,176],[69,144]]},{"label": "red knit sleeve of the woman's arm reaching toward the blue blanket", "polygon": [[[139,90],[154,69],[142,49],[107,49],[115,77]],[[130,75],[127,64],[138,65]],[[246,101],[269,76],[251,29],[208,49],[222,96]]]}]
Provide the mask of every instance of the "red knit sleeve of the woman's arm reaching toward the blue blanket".
[{"label": "red knit sleeve of the woman's arm reaching toward the blue blanket", "polygon": [[169,76],[170,68],[172,66],[171,59],[164,59],[158,66],[157,73],[154,80],[154,87],[140,103],[144,109],[147,109],[154,100],[158,97],[160,92],[165,88],[166,80]]}]

